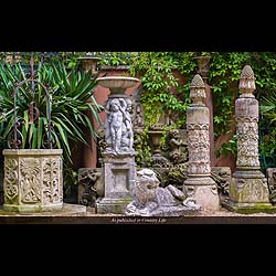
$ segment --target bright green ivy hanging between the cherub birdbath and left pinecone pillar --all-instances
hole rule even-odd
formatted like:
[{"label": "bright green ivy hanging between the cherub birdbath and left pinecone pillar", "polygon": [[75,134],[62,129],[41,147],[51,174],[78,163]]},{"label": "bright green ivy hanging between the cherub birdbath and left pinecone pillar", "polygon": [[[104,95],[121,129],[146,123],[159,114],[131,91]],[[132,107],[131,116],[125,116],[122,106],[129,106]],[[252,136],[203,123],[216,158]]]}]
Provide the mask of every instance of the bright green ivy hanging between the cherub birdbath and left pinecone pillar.
[{"label": "bright green ivy hanging between the cherub birdbath and left pinecone pillar", "polygon": [[134,56],[130,74],[141,76],[145,88],[141,104],[148,126],[158,123],[163,114],[170,113],[174,117],[182,117],[183,121],[188,105],[183,97],[183,87],[180,87],[179,78],[174,74],[179,66],[180,56],[177,53],[142,52]]}]

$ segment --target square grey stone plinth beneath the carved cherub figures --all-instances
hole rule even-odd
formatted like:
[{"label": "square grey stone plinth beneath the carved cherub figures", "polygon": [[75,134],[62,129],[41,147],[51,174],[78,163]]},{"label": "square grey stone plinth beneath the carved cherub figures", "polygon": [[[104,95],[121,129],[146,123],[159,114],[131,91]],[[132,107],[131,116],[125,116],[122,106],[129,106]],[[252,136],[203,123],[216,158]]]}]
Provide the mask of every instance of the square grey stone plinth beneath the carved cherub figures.
[{"label": "square grey stone plinth beneath the carved cherub figures", "polygon": [[96,203],[96,213],[124,213],[126,205],[132,200],[135,153],[104,153],[104,162],[105,197]]}]

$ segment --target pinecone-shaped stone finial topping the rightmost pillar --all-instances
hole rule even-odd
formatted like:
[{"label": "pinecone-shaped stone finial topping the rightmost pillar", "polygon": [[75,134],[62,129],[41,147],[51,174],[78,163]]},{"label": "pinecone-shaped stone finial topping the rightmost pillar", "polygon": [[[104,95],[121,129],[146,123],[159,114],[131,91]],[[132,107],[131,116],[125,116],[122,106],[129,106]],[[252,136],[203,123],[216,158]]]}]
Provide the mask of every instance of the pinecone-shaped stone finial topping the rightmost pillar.
[{"label": "pinecone-shaped stone finial topping the rightmost pillar", "polygon": [[[250,65],[245,65],[241,73],[238,89],[243,94],[242,97],[245,97],[244,94],[252,94],[255,89],[255,77],[254,72]],[[250,96],[250,95],[248,95]],[[253,95],[251,95],[252,97]]]}]

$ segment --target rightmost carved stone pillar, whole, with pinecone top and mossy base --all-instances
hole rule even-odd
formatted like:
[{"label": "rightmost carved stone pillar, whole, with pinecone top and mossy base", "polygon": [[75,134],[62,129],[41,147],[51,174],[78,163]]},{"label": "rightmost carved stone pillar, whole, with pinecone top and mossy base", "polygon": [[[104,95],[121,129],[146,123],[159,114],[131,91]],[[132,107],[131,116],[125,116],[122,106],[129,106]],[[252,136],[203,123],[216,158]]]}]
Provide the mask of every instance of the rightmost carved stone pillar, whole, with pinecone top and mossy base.
[{"label": "rightmost carved stone pillar, whole, with pinecone top and mossy base", "polygon": [[237,135],[236,171],[230,184],[230,201],[225,206],[233,211],[264,211],[269,209],[267,179],[261,172],[258,159],[258,100],[253,95],[255,77],[245,65],[238,85],[241,95],[235,102]]}]

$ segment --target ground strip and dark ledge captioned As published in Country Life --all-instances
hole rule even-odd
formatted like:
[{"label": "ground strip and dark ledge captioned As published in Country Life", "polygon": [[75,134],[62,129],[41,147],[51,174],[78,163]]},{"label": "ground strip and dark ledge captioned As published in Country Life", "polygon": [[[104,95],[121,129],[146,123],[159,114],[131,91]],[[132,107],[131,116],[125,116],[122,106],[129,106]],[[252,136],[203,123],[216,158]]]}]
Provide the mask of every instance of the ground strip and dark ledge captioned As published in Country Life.
[{"label": "ground strip and dark ledge captioned As published in Country Life", "polygon": [[6,212],[0,206],[0,224],[276,224],[276,213],[242,214],[221,209],[182,216],[126,216],[97,214],[94,208],[64,203],[60,212]]}]

